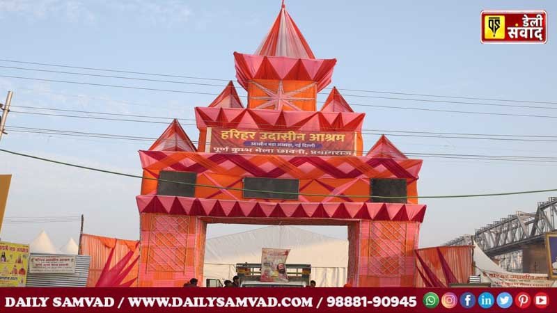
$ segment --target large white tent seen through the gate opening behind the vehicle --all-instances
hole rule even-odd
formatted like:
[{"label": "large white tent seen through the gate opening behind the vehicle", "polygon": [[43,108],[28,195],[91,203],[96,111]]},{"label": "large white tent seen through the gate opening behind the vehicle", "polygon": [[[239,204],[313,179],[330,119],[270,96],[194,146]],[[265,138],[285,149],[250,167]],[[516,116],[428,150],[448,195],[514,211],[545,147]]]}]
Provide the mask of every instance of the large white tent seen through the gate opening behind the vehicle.
[{"label": "large white tent seen through the gate opening behind the vehicle", "polygon": [[286,263],[311,264],[311,279],[317,287],[342,287],[346,282],[348,241],[292,226],[269,226],[207,239],[203,276],[232,280],[237,263],[261,262],[262,248],[290,249]]}]

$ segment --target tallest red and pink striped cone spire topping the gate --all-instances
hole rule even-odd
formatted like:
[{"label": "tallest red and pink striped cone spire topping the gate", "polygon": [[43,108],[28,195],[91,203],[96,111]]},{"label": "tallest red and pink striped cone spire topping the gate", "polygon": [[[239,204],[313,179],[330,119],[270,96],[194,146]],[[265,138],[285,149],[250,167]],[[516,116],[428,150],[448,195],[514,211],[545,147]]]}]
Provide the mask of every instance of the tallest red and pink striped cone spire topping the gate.
[{"label": "tallest red and pink striped cone spire topping the gate", "polygon": [[290,58],[315,58],[304,35],[285,8],[284,1],[273,26],[259,45],[260,56],[288,56]]}]

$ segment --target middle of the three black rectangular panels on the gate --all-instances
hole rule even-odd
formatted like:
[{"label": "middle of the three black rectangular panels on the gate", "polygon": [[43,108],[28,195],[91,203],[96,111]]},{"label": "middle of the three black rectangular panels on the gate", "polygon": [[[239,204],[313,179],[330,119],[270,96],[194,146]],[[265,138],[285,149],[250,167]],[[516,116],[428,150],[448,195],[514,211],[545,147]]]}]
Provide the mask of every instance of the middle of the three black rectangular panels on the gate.
[{"label": "middle of the three black rectangular panels on the gate", "polygon": [[298,193],[298,179],[244,177],[244,198],[298,200]]}]

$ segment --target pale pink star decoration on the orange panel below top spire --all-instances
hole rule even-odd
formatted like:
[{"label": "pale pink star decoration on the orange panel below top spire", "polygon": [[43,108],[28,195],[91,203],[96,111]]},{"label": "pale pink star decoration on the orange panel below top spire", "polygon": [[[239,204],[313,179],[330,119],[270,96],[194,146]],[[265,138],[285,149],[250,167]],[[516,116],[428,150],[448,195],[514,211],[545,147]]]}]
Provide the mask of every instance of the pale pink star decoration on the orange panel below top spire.
[{"label": "pale pink star decoration on the orange panel below top spire", "polygon": [[302,88],[289,91],[288,93],[284,92],[283,81],[278,81],[278,88],[276,91],[270,90],[269,88],[262,86],[260,83],[256,83],[255,81],[251,81],[253,85],[260,88],[267,97],[251,97],[251,99],[256,100],[264,100],[265,102],[256,106],[254,109],[274,109],[274,110],[283,110],[286,106],[294,111],[301,111],[299,106],[293,104],[292,101],[315,101],[315,98],[304,98],[304,97],[293,97],[299,93],[302,93],[310,88],[315,86],[315,83],[310,83]]}]

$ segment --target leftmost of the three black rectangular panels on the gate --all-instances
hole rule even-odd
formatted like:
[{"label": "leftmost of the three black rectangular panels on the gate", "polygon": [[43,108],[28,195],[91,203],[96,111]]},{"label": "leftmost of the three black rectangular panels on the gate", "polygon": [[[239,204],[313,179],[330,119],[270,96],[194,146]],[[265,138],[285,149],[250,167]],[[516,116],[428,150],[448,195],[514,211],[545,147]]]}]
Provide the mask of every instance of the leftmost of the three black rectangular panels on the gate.
[{"label": "leftmost of the three black rectangular panels on the gate", "polygon": [[157,195],[194,197],[196,193],[196,186],[194,185],[196,183],[197,173],[195,172],[162,170],[159,174],[159,179],[171,180],[173,182],[185,182],[188,184],[162,182],[159,180],[159,184],[157,185]]}]

